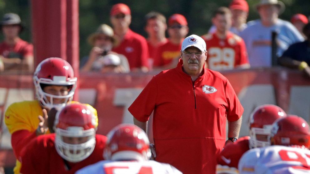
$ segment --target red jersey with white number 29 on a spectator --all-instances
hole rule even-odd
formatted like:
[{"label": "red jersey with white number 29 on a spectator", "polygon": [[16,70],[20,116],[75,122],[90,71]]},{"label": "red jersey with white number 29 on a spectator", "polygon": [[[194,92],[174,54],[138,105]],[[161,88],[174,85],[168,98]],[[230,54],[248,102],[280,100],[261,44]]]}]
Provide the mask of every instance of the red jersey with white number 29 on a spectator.
[{"label": "red jersey with white number 29 on a spectator", "polygon": [[231,70],[238,65],[249,64],[243,39],[228,32],[225,40],[216,33],[202,36],[207,44],[207,64],[211,70]]}]

